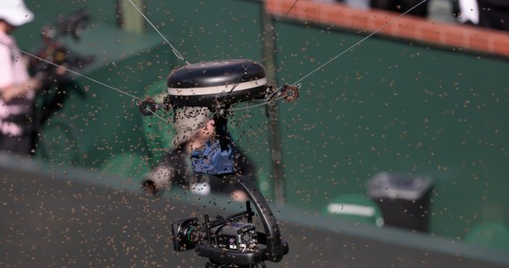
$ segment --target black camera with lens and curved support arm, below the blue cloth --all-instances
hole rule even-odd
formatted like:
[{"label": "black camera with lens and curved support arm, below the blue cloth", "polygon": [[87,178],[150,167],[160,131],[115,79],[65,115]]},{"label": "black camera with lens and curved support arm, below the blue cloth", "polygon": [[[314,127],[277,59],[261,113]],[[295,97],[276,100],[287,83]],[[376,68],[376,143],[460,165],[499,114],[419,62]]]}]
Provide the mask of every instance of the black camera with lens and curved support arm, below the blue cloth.
[{"label": "black camera with lens and curved support arm, below the blue cloth", "polygon": [[255,212],[251,201],[246,201],[246,211],[229,216],[216,216],[204,223],[196,217],[171,224],[173,249],[195,249],[196,254],[209,258],[206,267],[256,267],[264,261],[280,262],[288,254],[288,242],[280,237],[280,230],[270,206],[248,178],[232,177],[246,189],[262,220],[264,232],[257,231],[253,223]]}]

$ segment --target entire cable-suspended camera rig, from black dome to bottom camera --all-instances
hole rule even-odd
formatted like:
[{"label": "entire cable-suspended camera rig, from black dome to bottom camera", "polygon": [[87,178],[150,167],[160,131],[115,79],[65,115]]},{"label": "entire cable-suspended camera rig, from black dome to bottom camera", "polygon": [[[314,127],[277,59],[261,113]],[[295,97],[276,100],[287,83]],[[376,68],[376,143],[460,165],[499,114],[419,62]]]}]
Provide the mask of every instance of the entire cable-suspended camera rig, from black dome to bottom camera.
[{"label": "entire cable-suspended camera rig, from black dome to bottom camera", "polygon": [[[213,112],[216,138],[192,153],[193,170],[237,183],[249,197],[246,211],[237,214],[217,216],[214,220],[204,215],[202,224],[196,217],[173,222],[173,248],[176,251],[194,248],[197,255],[209,259],[206,267],[256,267],[264,261],[280,262],[288,254],[288,242],[281,238],[271,207],[255,183],[235,172],[235,145],[227,129],[227,116],[232,105],[244,101],[269,102],[280,97],[293,101],[298,97],[298,87],[271,88],[263,66],[242,59],[180,67],[171,71],[167,86],[168,95],[162,104],[148,98],[138,103],[140,112],[151,115],[159,109],[208,107]],[[263,232],[255,230],[251,202],[261,219]]]}]

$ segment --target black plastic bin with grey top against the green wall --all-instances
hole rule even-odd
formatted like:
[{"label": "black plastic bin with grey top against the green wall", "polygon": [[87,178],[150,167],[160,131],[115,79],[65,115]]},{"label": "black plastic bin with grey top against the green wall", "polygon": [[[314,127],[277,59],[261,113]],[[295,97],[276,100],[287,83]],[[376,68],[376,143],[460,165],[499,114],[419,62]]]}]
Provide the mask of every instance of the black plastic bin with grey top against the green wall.
[{"label": "black plastic bin with grey top against the green wall", "polygon": [[368,181],[367,187],[368,196],[380,206],[384,224],[429,231],[430,178],[380,172]]}]

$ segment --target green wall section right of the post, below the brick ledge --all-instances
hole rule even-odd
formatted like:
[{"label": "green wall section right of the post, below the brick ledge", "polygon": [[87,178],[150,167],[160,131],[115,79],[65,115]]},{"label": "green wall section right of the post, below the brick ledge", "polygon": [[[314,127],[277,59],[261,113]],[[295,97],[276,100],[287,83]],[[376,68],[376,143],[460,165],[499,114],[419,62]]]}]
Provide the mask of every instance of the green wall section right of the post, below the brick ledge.
[{"label": "green wall section right of the post, below the brick ledge", "polygon": [[[363,35],[283,22],[280,80],[293,83]],[[430,176],[431,232],[464,238],[509,220],[509,62],[369,38],[302,81],[282,110],[288,203],[366,195],[377,172]]]}]

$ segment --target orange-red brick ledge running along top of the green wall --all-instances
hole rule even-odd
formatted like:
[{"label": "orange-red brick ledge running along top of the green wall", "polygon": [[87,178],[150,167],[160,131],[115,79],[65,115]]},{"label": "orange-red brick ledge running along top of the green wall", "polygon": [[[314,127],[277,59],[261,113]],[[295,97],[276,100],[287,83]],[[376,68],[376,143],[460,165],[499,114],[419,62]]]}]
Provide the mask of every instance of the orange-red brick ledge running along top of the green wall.
[{"label": "orange-red brick ledge running along top of the green wall", "polygon": [[[292,20],[365,30],[366,34],[384,27],[400,14],[379,10],[363,11],[344,4],[300,0],[266,0],[265,10]],[[291,9],[290,9],[291,8]],[[509,33],[473,26],[441,23],[405,15],[380,29],[379,34],[416,40],[430,45],[450,46],[474,52],[509,56]]]}]

